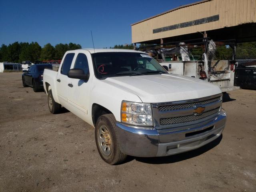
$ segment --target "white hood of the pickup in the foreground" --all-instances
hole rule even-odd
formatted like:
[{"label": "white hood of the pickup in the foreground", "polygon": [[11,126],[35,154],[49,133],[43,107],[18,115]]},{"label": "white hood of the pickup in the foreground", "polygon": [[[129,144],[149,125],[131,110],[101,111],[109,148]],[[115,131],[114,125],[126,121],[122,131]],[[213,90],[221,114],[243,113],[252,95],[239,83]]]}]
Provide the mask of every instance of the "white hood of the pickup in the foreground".
[{"label": "white hood of the pickup in the foreground", "polygon": [[220,88],[211,83],[176,74],[119,76],[103,81],[136,94],[145,103],[196,99],[221,93]]}]

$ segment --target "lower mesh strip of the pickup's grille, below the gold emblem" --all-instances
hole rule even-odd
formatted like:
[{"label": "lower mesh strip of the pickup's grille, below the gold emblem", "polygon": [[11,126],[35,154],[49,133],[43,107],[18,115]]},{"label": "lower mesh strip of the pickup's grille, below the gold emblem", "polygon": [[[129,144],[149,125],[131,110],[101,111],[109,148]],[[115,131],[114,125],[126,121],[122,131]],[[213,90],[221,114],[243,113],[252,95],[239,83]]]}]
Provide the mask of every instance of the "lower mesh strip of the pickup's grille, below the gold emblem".
[{"label": "lower mesh strip of the pickup's grille, below the gold emblem", "polygon": [[172,117],[172,118],[161,118],[160,119],[160,124],[161,125],[169,125],[169,124],[179,124],[179,123],[184,123],[184,122],[192,122],[196,120],[200,120],[202,118],[206,118],[208,116],[211,116],[217,112],[219,112],[220,107],[202,112],[199,115],[187,115],[187,116],[180,116],[180,117]]}]

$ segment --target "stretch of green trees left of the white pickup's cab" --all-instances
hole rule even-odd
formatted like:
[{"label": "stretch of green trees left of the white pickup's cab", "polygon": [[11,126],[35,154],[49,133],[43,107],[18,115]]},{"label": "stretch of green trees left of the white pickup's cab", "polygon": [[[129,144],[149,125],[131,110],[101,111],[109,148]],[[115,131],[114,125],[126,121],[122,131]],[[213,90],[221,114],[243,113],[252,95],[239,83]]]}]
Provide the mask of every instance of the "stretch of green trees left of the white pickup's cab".
[{"label": "stretch of green trees left of the white pickup's cab", "polygon": [[0,47],[0,62],[40,61],[40,60],[61,60],[68,50],[81,49],[80,44],[56,44],[50,43],[41,47],[37,42],[14,42],[8,46],[2,44]]}]

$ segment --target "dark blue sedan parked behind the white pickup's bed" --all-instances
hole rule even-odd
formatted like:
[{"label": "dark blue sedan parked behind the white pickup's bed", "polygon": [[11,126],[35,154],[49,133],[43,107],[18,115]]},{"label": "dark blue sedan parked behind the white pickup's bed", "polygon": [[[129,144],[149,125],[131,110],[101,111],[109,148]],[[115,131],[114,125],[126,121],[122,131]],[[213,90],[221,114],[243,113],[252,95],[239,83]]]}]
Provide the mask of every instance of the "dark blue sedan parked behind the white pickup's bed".
[{"label": "dark blue sedan parked behind the white pickup's bed", "polygon": [[30,86],[34,92],[43,90],[43,73],[45,68],[52,69],[52,64],[34,64],[27,71],[23,71],[22,84]]}]

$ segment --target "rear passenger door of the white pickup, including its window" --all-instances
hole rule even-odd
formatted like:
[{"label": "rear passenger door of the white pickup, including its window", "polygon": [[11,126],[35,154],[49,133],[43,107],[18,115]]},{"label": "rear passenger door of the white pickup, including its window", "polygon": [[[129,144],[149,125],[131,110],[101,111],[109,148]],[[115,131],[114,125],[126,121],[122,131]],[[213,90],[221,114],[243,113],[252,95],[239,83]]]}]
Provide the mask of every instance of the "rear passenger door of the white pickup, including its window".
[{"label": "rear passenger door of the white pickup, including its window", "polygon": [[65,108],[68,107],[68,71],[70,70],[73,58],[75,54],[74,53],[67,53],[65,55],[65,58],[63,60],[61,69],[58,70],[57,74],[57,94],[58,94],[58,99],[60,101],[60,104],[64,106]]}]

